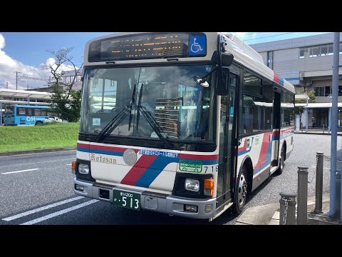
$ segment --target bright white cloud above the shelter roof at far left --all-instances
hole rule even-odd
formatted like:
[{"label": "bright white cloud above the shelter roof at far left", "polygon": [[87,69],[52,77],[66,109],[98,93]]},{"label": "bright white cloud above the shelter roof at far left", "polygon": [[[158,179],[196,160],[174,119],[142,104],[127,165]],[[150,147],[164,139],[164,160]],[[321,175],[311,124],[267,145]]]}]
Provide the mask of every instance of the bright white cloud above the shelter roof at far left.
[{"label": "bright white cloud above the shelter roof at far left", "polygon": [[[56,67],[55,59],[49,58],[45,63],[40,64],[38,67],[28,66],[20,61],[12,59],[11,56],[7,55],[4,51],[5,46],[6,42],[4,36],[0,34],[0,85],[8,83],[9,89],[16,89],[16,71],[21,72],[18,74],[18,76],[25,75],[27,77],[38,79],[50,78],[51,73],[48,71],[48,69],[45,69],[45,67],[46,64]],[[73,66],[61,66],[61,71],[69,71],[71,69],[73,69]],[[46,84],[46,81],[18,79],[18,89],[27,89],[27,86],[29,86],[29,88],[40,88],[46,86]],[[1,86],[0,88],[3,89],[4,86]]]}]

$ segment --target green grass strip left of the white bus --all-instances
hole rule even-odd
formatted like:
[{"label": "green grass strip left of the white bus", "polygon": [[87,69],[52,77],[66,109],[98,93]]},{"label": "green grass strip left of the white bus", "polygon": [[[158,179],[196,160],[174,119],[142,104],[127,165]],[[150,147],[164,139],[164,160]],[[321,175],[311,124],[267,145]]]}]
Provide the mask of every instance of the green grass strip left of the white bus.
[{"label": "green grass strip left of the white bus", "polygon": [[76,146],[80,124],[0,126],[0,152]]}]

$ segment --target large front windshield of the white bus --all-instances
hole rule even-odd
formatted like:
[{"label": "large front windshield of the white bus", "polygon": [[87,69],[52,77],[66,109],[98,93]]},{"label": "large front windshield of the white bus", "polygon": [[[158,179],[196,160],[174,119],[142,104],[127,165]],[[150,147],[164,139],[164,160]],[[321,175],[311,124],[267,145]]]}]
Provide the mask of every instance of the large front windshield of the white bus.
[{"label": "large front windshield of the white bus", "polygon": [[[106,136],[213,141],[212,65],[88,69],[85,71],[81,132]],[[104,131],[103,131],[104,132]],[[158,133],[160,132],[160,133]]]}]

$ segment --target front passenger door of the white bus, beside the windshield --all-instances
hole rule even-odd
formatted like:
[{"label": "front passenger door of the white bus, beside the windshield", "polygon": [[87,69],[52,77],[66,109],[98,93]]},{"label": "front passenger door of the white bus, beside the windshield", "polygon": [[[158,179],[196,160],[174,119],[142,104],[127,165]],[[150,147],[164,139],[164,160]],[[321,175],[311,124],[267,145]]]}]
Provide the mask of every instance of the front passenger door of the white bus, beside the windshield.
[{"label": "front passenger door of the white bus, beside the windshield", "polygon": [[[219,106],[219,166],[217,174],[217,208],[224,203],[232,201],[232,177],[234,173],[235,151],[234,138],[236,137],[236,102],[237,102],[237,84],[239,76],[230,74],[230,79],[227,81],[228,69],[224,69],[226,82],[229,82],[229,95],[221,96]],[[221,210],[218,210],[221,211]]]}]

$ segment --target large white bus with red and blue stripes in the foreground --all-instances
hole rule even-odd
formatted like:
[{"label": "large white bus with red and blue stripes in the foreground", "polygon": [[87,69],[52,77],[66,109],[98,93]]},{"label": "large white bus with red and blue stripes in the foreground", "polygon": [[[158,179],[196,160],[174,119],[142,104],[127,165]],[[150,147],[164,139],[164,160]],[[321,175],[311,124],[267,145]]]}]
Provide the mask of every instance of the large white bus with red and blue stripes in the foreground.
[{"label": "large white bus with red and blue stripes in the foreground", "polygon": [[212,221],[282,173],[294,86],[233,34],[114,34],[84,61],[76,194]]}]

